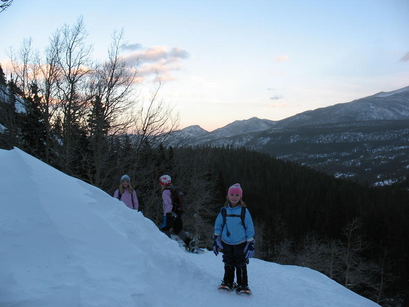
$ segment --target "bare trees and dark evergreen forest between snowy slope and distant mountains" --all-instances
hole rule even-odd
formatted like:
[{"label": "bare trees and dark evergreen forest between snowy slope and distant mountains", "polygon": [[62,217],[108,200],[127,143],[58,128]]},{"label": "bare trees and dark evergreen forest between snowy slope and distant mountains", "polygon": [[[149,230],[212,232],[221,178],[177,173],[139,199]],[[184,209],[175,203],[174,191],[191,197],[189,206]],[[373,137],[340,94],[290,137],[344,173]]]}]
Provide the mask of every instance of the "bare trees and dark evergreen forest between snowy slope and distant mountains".
[{"label": "bare trees and dark evergreen forest between snowy slope and distant mountains", "polygon": [[[409,296],[407,190],[337,180],[245,148],[167,146],[177,120],[157,100],[160,86],[147,103],[133,98],[137,71],[118,55],[122,33],[114,33],[106,62],[86,71],[64,62],[70,54],[88,58],[83,40],[66,48],[84,31],[81,19],[64,26],[44,59],[31,64],[25,42],[26,65],[16,64],[8,79],[0,66],[0,148],[17,146],[111,195],[127,173],[156,225],[158,178],[169,174],[186,193],[186,229],[207,248],[229,186],[240,183],[255,221],[257,257],[310,267],[384,306]],[[73,73],[78,78],[67,79]]]}]

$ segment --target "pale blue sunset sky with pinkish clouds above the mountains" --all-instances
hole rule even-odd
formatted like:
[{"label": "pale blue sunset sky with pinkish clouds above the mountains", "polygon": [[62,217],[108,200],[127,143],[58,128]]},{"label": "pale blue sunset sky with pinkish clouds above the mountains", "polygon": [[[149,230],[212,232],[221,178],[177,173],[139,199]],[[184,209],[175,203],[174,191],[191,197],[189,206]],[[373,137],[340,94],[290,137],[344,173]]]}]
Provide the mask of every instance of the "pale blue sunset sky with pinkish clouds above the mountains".
[{"label": "pale blue sunset sky with pinkish clouds above the mountains", "polygon": [[180,128],[280,120],[409,85],[407,0],[15,0],[0,13],[0,63],[24,37],[43,50],[80,15],[98,59],[124,29],[123,56],[140,60],[141,97],[157,71]]}]

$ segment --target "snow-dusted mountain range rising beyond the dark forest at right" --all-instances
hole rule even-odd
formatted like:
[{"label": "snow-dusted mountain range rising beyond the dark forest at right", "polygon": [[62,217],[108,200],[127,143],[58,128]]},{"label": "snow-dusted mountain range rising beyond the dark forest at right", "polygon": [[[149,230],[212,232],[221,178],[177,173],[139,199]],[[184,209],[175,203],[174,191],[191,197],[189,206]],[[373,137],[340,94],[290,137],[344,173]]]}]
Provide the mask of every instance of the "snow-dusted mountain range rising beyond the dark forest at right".
[{"label": "snow-dusted mountain range rising beyond the dark forest at right", "polygon": [[[254,123],[253,131],[242,128],[247,122]],[[245,146],[336,177],[393,183],[409,169],[409,86],[277,122],[236,121],[188,144]]]}]

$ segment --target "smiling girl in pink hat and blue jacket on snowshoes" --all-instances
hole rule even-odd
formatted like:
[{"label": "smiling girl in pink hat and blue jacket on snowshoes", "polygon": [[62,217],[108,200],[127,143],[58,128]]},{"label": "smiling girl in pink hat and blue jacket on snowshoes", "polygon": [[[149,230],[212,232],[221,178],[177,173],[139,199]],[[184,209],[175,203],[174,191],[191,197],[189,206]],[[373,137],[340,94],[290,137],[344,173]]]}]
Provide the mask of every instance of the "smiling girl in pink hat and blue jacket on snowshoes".
[{"label": "smiling girl in pink hat and blue jacket on snowshoes", "polygon": [[236,289],[237,294],[252,294],[248,288],[247,264],[254,255],[254,225],[242,196],[240,184],[229,188],[227,200],[214,225],[213,252],[216,256],[219,250],[223,252],[224,276],[219,289]]}]

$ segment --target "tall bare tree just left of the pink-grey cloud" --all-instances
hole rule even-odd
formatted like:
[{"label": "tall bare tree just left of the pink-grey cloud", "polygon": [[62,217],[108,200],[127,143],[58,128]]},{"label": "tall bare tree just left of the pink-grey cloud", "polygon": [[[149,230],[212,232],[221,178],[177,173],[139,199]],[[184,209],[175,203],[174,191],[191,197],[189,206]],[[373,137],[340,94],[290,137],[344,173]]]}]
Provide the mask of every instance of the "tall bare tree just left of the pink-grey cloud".
[{"label": "tall bare tree just left of the pink-grey cloud", "polygon": [[[120,55],[124,46],[124,32],[114,31],[108,49],[108,60],[100,65],[92,76],[89,95],[90,110],[88,133],[92,146],[92,163],[88,168],[90,183],[105,188],[109,184],[109,172],[102,172],[109,167],[107,139],[124,135],[131,128],[132,111],[138,103],[136,77],[137,63],[127,67]],[[91,171],[92,170],[92,171]]]}]

